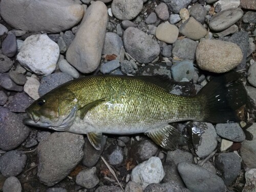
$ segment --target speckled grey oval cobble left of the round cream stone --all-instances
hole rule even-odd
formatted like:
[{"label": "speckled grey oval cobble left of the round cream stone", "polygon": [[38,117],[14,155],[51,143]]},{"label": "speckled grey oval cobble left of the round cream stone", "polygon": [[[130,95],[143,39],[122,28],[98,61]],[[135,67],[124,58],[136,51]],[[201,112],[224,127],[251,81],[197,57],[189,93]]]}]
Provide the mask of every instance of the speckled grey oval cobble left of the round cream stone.
[{"label": "speckled grey oval cobble left of the round cream stone", "polygon": [[139,63],[149,63],[160,53],[157,41],[134,27],[129,27],[124,31],[123,44],[127,53]]}]

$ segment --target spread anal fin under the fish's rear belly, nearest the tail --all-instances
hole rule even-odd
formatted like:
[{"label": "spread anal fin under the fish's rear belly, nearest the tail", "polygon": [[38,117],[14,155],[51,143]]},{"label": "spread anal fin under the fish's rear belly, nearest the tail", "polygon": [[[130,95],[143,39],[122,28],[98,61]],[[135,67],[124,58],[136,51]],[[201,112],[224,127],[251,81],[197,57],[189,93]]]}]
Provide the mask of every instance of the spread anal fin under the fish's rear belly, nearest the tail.
[{"label": "spread anal fin under the fish's rear belly, nearest the tail", "polygon": [[156,129],[145,133],[156,144],[167,149],[173,150],[177,143],[181,143],[184,137],[172,125],[166,125],[161,129]]}]

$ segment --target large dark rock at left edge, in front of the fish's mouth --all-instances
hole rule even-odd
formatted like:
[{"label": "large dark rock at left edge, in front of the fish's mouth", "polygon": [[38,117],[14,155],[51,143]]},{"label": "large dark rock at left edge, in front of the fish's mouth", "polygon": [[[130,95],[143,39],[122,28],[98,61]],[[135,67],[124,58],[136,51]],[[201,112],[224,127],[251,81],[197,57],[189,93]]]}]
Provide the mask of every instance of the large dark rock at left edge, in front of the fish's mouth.
[{"label": "large dark rock at left edge, in front of the fish's mouth", "polygon": [[5,151],[19,146],[29,135],[22,114],[15,114],[0,106],[0,148]]}]

